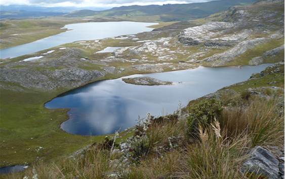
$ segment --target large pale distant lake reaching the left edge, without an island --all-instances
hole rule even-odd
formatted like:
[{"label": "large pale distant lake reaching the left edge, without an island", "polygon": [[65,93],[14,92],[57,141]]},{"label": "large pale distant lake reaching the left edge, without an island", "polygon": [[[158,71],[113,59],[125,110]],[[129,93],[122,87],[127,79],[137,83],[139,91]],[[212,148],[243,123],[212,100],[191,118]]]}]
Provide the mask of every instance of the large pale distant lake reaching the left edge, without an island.
[{"label": "large pale distant lake reaching the left edge, without an island", "polygon": [[146,26],[157,23],[143,22],[88,22],[65,25],[64,28],[72,29],[49,38],[32,43],[19,45],[0,50],[1,58],[15,58],[18,56],[38,52],[44,49],[56,47],[74,41],[87,41],[117,37],[119,35],[135,34],[143,31],[151,31],[153,28]]}]

